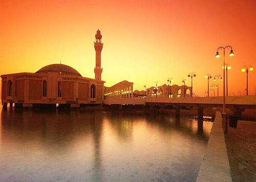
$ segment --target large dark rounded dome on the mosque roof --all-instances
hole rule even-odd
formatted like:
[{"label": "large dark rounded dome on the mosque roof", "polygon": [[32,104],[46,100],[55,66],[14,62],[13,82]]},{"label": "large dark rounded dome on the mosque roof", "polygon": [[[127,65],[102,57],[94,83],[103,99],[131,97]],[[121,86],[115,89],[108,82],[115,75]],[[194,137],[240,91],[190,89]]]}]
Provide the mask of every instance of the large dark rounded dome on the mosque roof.
[{"label": "large dark rounded dome on the mosque roof", "polygon": [[36,71],[36,73],[41,72],[61,72],[62,74],[76,74],[81,76],[81,74],[77,70],[65,64],[50,64]]}]

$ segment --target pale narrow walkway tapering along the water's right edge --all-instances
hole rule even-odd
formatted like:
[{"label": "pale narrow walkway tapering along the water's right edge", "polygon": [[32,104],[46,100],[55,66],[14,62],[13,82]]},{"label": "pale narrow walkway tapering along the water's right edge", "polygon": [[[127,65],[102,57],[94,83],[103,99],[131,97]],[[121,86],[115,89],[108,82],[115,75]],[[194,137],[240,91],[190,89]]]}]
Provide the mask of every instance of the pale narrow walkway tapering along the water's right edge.
[{"label": "pale narrow walkway tapering along the water's right edge", "polygon": [[219,111],[216,112],[197,181],[232,181]]}]

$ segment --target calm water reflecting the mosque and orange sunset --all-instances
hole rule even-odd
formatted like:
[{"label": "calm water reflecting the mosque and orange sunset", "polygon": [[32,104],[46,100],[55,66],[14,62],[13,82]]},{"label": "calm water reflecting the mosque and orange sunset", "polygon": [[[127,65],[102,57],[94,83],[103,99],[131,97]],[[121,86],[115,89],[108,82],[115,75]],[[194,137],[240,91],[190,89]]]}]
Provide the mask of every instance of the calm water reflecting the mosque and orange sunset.
[{"label": "calm water reflecting the mosque and orange sunset", "polygon": [[212,122],[0,110],[0,181],[196,181]]}]

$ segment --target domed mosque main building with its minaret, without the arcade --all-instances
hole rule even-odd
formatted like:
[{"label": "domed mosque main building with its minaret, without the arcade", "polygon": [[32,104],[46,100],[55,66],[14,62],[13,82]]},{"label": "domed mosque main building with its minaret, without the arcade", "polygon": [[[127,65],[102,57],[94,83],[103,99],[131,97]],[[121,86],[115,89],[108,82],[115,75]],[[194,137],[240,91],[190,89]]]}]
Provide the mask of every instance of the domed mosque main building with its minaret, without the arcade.
[{"label": "domed mosque main building with its minaret, without the arcade", "polygon": [[101,81],[102,35],[97,31],[95,79],[82,77],[74,68],[64,64],[51,64],[35,73],[4,74],[2,77],[2,105],[7,108],[76,108],[83,104],[101,104],[104,81]]}]

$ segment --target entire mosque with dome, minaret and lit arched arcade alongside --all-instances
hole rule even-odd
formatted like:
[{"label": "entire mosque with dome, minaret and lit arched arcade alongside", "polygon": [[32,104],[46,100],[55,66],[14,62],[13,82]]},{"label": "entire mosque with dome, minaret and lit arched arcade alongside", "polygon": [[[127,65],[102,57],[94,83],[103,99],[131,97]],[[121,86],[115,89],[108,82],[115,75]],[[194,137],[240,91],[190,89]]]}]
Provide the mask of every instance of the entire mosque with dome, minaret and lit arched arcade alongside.
[{"label": "entire mosque with dome, minaret and lit arched arcade alongside", "polygon": [[[82,105],[102,105],[108,98],[143,99],[190,96],[191,87],[166,85],[133,91],[133,83],[122,81],[105,87],[101,80],[102,35],[97,30],[95,78],[83,77],[74,68],[64,64],[50,64],[35,73],[3,74],[2,105],[7,108],[78,108]],[[159,90],[158,90],[159,89]],[[172,89],[172,91],[171,91]]]}]

